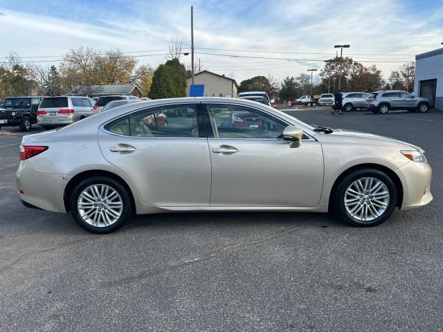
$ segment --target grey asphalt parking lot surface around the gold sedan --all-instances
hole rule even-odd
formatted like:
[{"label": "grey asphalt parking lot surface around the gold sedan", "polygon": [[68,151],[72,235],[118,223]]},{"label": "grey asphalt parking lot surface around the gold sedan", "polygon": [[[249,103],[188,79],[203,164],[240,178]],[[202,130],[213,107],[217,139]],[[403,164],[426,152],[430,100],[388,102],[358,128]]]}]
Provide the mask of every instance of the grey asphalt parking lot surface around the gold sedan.
[{"label": "grey asphalt parking lot surface around the gold sedan", "polygon": [[443,113],[288,112],[423,147],[434,201],[375,228],[328,214],[189,213],[93,235],[21,205],[22,134],[10,128],[0,131],[0,331],[442,331]]}]

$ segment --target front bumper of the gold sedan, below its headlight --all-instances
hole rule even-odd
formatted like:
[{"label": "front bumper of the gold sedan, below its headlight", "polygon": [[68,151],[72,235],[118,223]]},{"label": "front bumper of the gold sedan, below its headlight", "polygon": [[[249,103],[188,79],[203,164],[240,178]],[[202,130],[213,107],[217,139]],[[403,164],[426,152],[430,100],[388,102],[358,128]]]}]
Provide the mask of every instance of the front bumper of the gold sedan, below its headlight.
[{"label": "front bumper of the gold sedan, below its headlight", "polygon": [[395,170],[403,185],[400,210],[420,208],[433,200],[431,194],[432,169],[428,163],[410,161]]}]

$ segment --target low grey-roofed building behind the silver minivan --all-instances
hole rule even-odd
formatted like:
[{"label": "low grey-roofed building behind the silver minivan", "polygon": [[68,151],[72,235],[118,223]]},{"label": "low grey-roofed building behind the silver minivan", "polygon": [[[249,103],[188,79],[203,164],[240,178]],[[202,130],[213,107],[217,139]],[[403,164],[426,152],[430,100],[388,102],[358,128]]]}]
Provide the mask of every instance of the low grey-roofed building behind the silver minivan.
[{"label": "low grey-roofed building behind the silver minivan", "polygon": [[136,84],[112,84],[112,85],[79,85],[75,86],[70,95],[88,95],[100,97],[102,95],[135,95],[143,97],[143,93]]}]

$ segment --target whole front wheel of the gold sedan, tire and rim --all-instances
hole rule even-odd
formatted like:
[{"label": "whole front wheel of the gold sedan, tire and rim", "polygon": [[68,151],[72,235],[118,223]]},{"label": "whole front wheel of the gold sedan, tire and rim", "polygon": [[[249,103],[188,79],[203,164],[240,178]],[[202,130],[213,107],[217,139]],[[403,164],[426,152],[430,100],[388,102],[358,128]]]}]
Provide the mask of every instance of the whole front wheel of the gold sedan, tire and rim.
[{"label": "whole front wheel of the gold sedan, tire and rim", "polygon": [[338,218],[354,226],[383,223],[397,205],[397,188],[378,169],[359,169],[343,178],[334,193]]}]

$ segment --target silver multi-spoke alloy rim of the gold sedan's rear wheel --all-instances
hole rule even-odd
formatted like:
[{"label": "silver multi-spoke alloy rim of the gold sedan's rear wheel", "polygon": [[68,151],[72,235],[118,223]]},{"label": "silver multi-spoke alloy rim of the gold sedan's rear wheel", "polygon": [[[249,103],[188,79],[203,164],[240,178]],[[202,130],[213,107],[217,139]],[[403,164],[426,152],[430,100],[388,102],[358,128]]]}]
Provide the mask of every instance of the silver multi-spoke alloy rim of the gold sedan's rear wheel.
[{"label": "silver multi-spoke alloy rim of the gold sedan's rear wheel", "polygon": [[116,223],[123,213],[123,200],[109,185],[89,185],[78,196],[77,208],[84,222],[107,227]]}]

